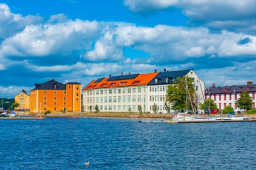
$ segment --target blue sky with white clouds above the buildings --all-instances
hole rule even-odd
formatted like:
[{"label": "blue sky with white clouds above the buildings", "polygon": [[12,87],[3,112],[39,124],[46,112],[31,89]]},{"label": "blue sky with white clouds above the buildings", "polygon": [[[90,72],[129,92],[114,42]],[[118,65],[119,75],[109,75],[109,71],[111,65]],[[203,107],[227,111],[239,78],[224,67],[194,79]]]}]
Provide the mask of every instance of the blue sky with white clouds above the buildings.
[{"label": "blue sky with white clouds above the buildings", "polygon": [[55,79],[194,69],[205,87],[256,82],[255,0],[0,2],[0,97]]}]

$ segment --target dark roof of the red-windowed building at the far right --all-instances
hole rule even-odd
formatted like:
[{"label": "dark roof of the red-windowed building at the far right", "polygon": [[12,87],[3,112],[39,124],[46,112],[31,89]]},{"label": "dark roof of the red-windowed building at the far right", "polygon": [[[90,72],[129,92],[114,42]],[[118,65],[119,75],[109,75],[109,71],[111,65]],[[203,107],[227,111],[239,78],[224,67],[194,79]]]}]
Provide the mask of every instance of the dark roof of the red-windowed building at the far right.
[{"label": "dark roof of the red-windowed building at the far right", "polygon": [[[205,89],[205,95],[209,94],[207,89]],[[210,89],[210,95],[224,94],[224,93],[241,93],[243,91],[254,92],[256,91],[256,85],[232,85],[232,86],[222,86],[222,87],[218,86],[218,87],[209,87],[209,89]]]}]

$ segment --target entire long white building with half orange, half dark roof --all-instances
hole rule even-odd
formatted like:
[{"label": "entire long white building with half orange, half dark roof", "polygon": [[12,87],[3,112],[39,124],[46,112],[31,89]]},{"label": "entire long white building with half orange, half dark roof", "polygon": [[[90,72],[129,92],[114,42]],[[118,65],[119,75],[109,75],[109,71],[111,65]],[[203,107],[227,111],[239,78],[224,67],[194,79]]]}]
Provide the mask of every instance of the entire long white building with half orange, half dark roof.
[{"label": "entire long white building with half orange, half dark roof", "polygon": [[[185,71],[166,71],[164,73],[129,74],[103,77],[92,81],[83,89],[85,111],[90,105],[98,105],[101,112],[138,112],[141,105],[143,112],[153,112],[152,105],[158,105],[158,113],[166,113],[164,101],[168,85],[177,77],[187,75],[194,79],[195,89],[203,102],[204,83],[192,69]],[[167,81],[166,81],[167,80]],[[201,83],[201,88],[199,87]]]}]

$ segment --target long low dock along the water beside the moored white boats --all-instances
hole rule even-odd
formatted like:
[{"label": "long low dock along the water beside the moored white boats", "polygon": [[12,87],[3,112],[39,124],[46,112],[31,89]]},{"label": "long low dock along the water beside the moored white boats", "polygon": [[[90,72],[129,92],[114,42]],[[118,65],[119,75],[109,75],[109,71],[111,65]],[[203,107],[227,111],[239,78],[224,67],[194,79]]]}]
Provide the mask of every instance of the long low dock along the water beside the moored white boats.
[{"label": "long low dock along the water beside the moored white boats", "polygon": [[166,121],[168,124],[191,124],[191,123],[225,123],[225,122],[256,122],[256,119],[250,120],[181,120],[181,121]]}]

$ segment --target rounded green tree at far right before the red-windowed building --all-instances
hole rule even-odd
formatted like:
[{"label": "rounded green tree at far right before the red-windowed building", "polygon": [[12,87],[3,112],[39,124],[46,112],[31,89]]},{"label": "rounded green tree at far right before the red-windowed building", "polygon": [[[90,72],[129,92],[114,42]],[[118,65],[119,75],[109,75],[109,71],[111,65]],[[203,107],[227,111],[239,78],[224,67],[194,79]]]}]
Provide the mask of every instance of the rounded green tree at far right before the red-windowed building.
[{"label": "rounded green tree at far right before the red-windowed building", "polygon": [[242,108],[243,110],[251,110],[253,99],[247,91],[243,91],[236,103],[238,104],[238,107]]}]

